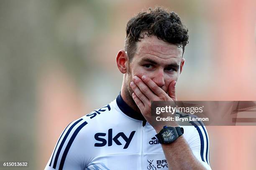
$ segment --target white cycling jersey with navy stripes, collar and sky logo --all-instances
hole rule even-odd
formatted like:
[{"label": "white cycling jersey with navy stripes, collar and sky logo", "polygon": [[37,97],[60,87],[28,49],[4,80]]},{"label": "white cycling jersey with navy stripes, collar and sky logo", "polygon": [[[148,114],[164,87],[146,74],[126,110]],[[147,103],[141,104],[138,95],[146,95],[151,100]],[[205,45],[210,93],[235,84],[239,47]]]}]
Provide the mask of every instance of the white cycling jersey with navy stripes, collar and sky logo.
[{"label": "white cycling jersey with navy stripes, collar and sky logo", "polygon": [[[211,169],[206,128],[202,122],[190,123],[182,126],[183,136],[195,158]],[[155,135],[144,117],[118,95],[67,126],[45,170],[168,170]]]}]

